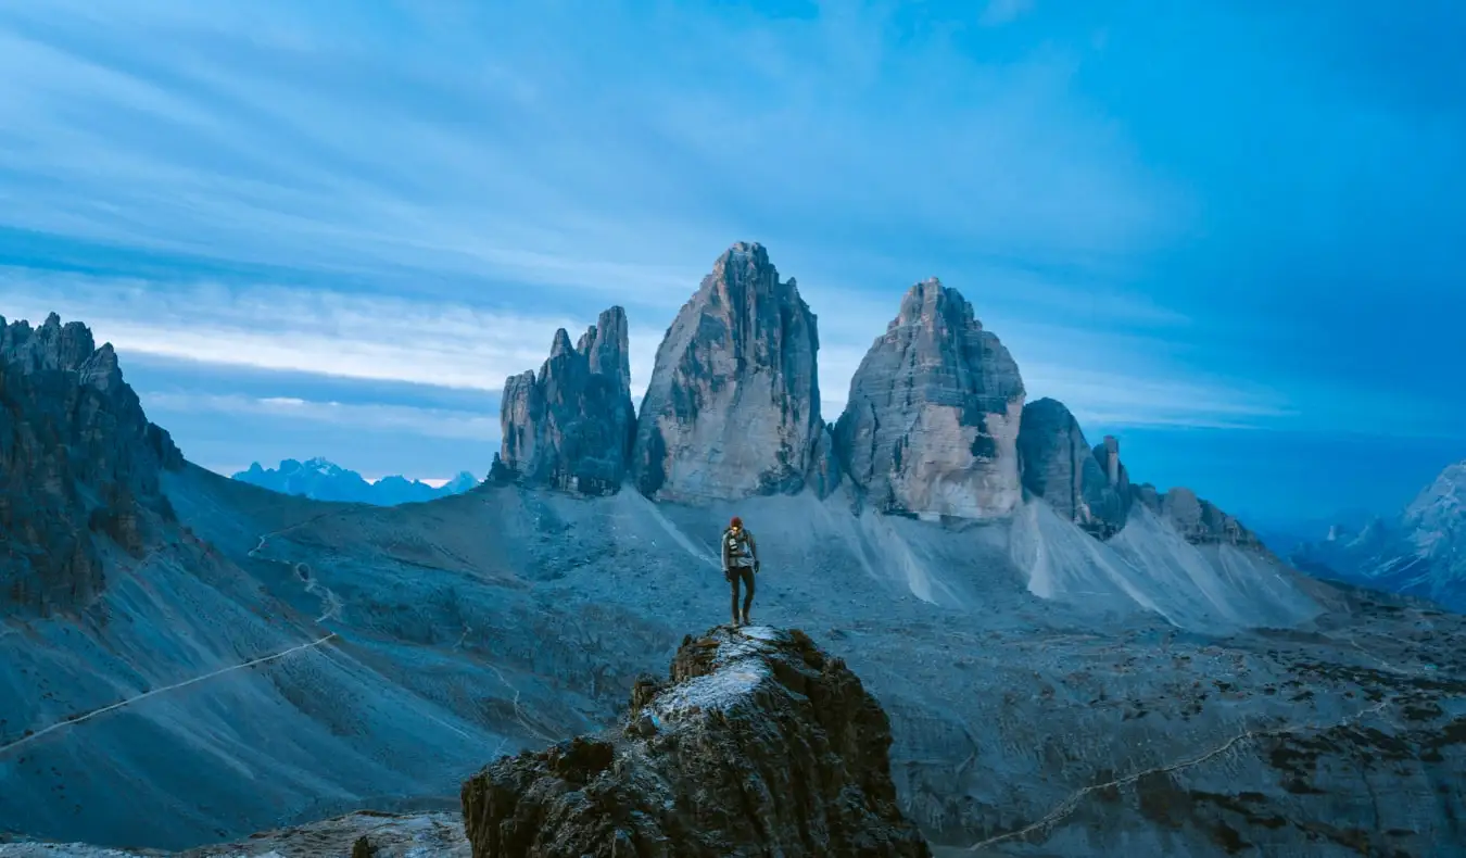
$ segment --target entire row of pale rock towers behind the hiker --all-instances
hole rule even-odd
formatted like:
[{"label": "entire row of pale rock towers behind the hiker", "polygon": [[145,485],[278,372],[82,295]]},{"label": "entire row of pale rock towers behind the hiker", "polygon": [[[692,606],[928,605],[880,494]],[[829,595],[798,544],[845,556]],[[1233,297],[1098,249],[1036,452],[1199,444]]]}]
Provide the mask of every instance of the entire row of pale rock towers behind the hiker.
[{"label": "entire row of pale rock towers behind the hiker", "polygon": [[[585,364],[581,352],[598,329],[616,331],[610,362],[619,365],[622,393],[614,408],[595,392],[598,374],[551,373],[564,361]],[[1048,496],[1100,540],[1121,531],[1132,509],[1146,506],[1190,541],[1262,550],[1242,522],[1192,490],[1161,493],[1132,483],[1119,439],[1107,436],[1089,447],[1063,403],[1026,402],[1022,373],[1001,340],[937,277],[905,292],[850,378],[833,424],[819,414],[818,317],[758,242],[724,251],[677,312],[641,409],[629,402],[626,351],[620,307],[601,314],[579,351],[564,330],[556,331],[539,374],[504,383],[504,440],[491,478],[573,490],[564,477],[550,475],[575,468],[561,450],[561,427],[610,425],[616,428],[597,430],[598,437],[620,439],[630,422],[629,466],[613,456],[598,469],[603,477],[579,491],[629,485],[657,500],[710,503],[806,488],[825,497],[849,483],[858,503],[885,513],[970,521],[1009,518],[1025,497]],[[566,405],[544,405],[547,392]],[[1060,453],[1070,441],[1083,450]],[[1048,472],[1041,478],[1039,471]],[[1066,483],[1073,485],[1064,490]]]}]

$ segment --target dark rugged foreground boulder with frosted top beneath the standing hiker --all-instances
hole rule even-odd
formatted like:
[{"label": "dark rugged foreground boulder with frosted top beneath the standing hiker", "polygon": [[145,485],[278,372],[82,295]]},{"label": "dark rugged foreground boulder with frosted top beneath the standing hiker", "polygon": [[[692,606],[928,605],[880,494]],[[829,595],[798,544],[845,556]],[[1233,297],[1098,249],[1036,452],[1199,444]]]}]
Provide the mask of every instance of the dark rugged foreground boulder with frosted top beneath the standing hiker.
[{"label": "dark rugged foreground boulder with frosted top beneath the standing hiker", "polygon": [[463,785],[475,858],[927,857],[890,723],[799,631],[688,637],[619,735],[503,758]]}]

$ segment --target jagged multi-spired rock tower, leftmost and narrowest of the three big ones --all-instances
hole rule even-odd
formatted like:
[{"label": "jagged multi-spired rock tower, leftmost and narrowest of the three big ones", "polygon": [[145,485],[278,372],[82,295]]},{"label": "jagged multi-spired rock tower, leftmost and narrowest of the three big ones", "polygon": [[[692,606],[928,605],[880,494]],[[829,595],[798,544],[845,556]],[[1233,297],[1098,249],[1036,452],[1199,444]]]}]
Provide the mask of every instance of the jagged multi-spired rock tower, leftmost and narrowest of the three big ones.
[{"label": "jagged multi-spired rock tower, leftmost and narrowest of the three big ones", "polygon": [[575,346],[564,329],[557,330],[538,375],[504,381],[500,428],[496,480],[507,471],[528,485],[617,491],[636,430],[626,311],[603,312]]}]

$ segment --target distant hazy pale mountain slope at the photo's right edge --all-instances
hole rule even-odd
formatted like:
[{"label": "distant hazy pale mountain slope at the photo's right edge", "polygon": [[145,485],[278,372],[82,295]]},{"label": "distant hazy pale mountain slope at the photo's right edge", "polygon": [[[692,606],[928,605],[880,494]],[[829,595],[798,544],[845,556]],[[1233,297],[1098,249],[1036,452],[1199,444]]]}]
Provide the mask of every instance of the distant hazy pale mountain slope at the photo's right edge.
[{"label": "distant hazy pale mountain slope at the photo's right edge", "polygon": [[1324,576],[1466,612],[1466,462],[1441,471],[1399,516],[1336,525],[1289,559]]}]

